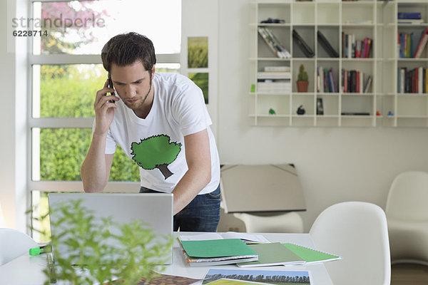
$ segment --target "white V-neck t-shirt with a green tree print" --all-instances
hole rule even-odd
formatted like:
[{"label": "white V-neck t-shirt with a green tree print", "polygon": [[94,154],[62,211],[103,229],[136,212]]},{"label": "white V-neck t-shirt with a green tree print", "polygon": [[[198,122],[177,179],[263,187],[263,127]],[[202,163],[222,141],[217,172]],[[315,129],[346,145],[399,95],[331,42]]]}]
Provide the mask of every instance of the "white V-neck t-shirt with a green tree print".
[{"label": "white V-neck t-shirt with a green tree print", "polygon": [[138,118],[122,100],[116,102],[106,154],[114,153],[116,145],[120,145],[140,166],[141,186],[172,192],[188,170],[184,136],[207,129],[211,181],[199,194],[213,192],[220,182],[220,161],[202,91],[177,73],[155,73],[153,88],[153,105],[145,119]]}]

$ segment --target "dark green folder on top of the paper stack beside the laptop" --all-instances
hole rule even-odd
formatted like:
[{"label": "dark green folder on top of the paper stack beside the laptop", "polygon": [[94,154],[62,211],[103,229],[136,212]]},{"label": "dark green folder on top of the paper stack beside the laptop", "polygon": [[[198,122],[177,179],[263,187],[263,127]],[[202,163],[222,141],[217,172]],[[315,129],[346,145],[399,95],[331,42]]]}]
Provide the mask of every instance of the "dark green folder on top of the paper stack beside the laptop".
[{"label": "dark green folder on top of the paper stack beside the laptop", "polygon": [[209,239],[180,242],[190,257],[257,257],[253,249],[250,249],[241,239]]}]

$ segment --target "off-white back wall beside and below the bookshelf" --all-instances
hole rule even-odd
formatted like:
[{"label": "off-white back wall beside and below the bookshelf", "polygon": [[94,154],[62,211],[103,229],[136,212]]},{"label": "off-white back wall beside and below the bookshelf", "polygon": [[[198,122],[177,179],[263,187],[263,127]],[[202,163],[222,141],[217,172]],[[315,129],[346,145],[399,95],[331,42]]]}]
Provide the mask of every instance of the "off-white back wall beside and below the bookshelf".
[{"label": "off-white back wall beside and below the bookshelf", "polygon": [[[305,192],[305,230],[336,202],[384,208],[393,178],[428,171],[427,128],[270,128],[248,120],[249,0],[219,0],[219,129],[222,163],[294,163]],[[263,191],[263,190],[260,190]],[[250,199],[251,197],[245,197]]]}]

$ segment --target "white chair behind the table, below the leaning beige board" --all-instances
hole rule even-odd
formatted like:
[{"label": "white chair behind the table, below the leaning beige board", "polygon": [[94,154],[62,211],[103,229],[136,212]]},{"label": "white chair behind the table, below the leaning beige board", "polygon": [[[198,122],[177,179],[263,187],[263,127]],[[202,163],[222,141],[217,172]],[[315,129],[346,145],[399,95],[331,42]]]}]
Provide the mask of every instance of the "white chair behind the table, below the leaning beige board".
[{"label": "white chair behind the table, below the leaning beige board", "polygon": [[248,213],[233,215],[244,222],[246,232],[303,232],[302,217],[296,212],[263,216]]}]

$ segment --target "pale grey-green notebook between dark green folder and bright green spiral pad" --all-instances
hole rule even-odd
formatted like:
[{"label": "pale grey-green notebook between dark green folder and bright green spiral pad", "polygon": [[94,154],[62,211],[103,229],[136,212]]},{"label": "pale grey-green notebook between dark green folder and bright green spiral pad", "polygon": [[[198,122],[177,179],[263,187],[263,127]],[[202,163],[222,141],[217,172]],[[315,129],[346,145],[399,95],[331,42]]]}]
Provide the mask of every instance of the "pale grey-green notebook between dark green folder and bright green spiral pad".
[{"label": "pale grey-green notebook between dark green folder and bright green spiral pad", "polygon": [[304,264],[305,260],[298,257],[280,242],[270,244],[248,244],[259,256],[258,261],[240,262],[240,267],[274,266],[287,264]]}]

